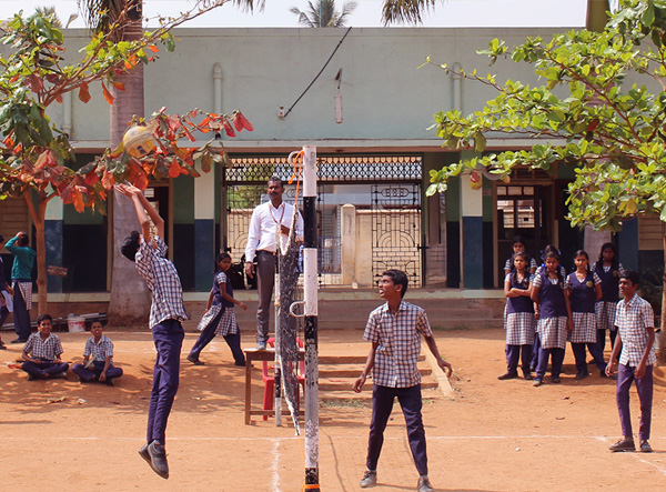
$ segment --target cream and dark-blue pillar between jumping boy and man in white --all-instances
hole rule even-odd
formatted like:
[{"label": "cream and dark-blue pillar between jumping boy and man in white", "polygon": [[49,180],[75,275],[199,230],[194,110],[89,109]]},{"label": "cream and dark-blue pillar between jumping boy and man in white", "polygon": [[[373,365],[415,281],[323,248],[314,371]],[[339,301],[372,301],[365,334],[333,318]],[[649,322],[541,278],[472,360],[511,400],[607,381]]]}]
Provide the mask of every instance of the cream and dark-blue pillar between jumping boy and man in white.
[{"label": "cream and dark-blue pillar between jumping boy and man in white", "polygon": [[194,289],[211,287],[215,261],[215,173],[201,172],[194,180]]}]

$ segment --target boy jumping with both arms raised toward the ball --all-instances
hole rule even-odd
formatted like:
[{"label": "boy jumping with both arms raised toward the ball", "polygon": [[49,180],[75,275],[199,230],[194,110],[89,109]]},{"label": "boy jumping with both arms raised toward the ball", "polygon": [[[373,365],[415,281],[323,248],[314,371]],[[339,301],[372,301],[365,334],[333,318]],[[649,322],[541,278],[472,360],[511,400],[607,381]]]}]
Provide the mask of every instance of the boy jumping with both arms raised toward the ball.
[{"label": "boy jumping with both arms raised toward the ball", "polygon": [[[181,324],[188,318],[183,307],[183,289],[178,271],[167,259],[164,221],[149,203],[141,190],[130,184],[117,184],[117,190],[132,199],[141,231],[132,231],[124,240],[121,252],[134,261],[137,271],[152,292],[150,328],[158,352],[153,372],[153,386],[148,410],[147,443],[139,450],[153,471],[169,478],[164,450],[167,421],[178,391],[180,352],[185,332]],[[151,220],[155,235],[151,239]]]}]

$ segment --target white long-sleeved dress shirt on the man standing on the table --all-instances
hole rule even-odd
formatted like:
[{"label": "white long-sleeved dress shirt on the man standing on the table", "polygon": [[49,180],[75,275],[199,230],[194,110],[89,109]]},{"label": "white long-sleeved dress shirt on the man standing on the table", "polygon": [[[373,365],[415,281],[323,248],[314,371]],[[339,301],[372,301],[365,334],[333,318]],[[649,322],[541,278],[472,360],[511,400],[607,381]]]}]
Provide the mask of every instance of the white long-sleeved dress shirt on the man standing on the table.
[{"label": "white long-sleeved dress shirt on the man standing on the table", "polygon": [[[250,219],[250,230],[248,231],[248,244],[245,245],[245,261],[253,261],[256,251],[265,250],[275,252],[279,225],[282,224],[291,229],[292,218],[296,213],[295,234],[303,234],[303,218],[294,209],[294,205],[280,203],[280,207],[273,207],[270,201],[258,205],[252,212]],[[289,237],[280,233],[282,248],[286,248]]]}]

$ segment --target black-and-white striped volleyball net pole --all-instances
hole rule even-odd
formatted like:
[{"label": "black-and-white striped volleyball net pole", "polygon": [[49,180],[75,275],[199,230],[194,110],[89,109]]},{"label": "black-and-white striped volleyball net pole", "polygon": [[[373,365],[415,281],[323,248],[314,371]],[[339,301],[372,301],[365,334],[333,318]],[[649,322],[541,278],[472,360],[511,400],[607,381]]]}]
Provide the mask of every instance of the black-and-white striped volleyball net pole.
[{"label": "black-and-white striped volleyball net pole", "polygon": [[305,485],[319,486],[316,147],[303,147],[303,301],[305,314]]}]

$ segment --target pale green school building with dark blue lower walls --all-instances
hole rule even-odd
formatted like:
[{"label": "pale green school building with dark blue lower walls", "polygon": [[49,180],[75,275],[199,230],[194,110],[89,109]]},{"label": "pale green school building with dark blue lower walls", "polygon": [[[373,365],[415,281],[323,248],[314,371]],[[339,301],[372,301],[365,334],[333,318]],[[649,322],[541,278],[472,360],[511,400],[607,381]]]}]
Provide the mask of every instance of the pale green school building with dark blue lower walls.
[{"label": "pale green school building with dark blue lower walls", "polygon": [[[286,158],[304,144],[315,145],[319,157],[324,288],[372,287],[383,270],[401,268],[415,288],[497,289],[516,234],[535,257],[554,243],[565,260],[583,247],[596,258],[610,235],[574,230],[564,219],[571,168],[519,169],[509,183],[484,177],[480,190],[464,175],[446,193],[425,195],[431,170],[472,155],[442,148],[428,130],[433,114],[470,113],[495,96],[438,67],[420,67],[425,58],[492,72],[500,81],[538,83],[528,66],[500,60],[488,67],[476,49],[493,38],[513,46],[565,29],[178,29],[175,52],[162,51],[145,67],[145,116],[161,107],[170,113],[240,109],[255,128],[234,139],[222,135],[231,169],[153,182],[147,190],[165,217],[169,254],[184,290],[209,291],[216,251],[241,260],[252,209],[266,200],[268,178],[289,179]],[[65,34],[75,53],[85,32]],[[49,110],[53,123],[71,134],[80,165],[109,147],[109,108],[99,87],[92,96],[84,104],[72,94]],[[194,145],[209,135],[199,138]],[[532,142],[488,135],[487,151]],[[289,200],[294,192],[295,184],[289,185]],[[9,238],[21,229],[30,230],[26,203],[0,202],[0,232]],[[623,264],[660,264],[663,233],[658,219],[625,222],[614,238]],[[108,217],[52,200],[47,237],[47,263],[68,269],[64,280],[50,278],[50,293],[108,299],[115,247]],[[4,259],[9,273],[11,255]]]}]

